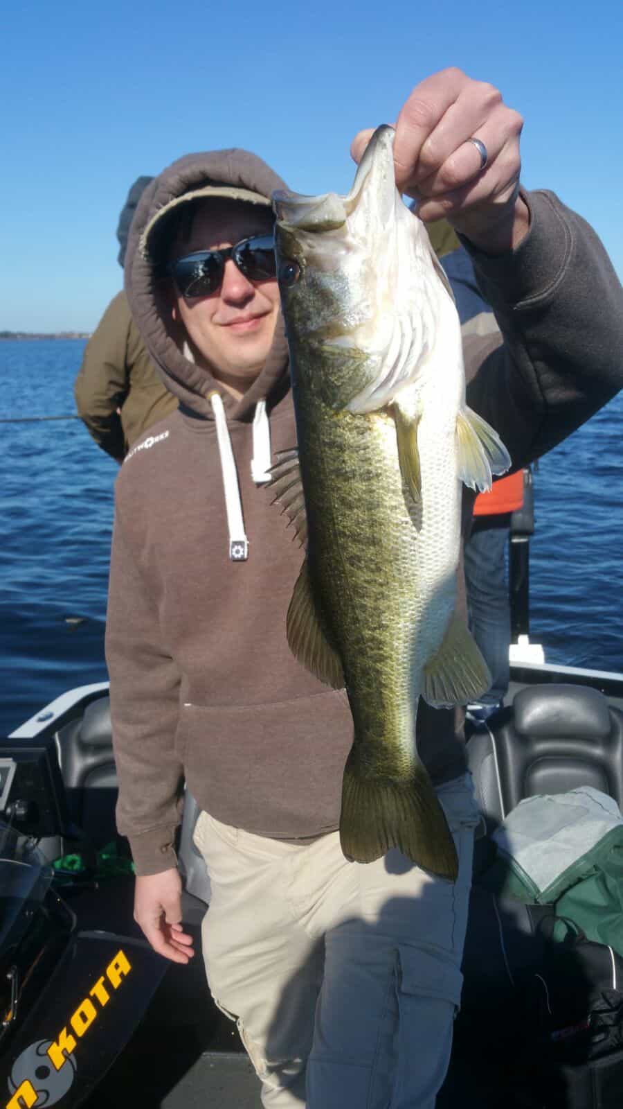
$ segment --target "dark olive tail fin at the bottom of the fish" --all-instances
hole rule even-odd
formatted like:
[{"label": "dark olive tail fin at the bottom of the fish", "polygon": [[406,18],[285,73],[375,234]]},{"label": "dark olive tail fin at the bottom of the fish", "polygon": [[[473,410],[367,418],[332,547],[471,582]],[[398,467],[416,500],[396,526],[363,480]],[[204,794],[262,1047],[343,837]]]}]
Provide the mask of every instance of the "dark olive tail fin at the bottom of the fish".
[{"label": "dark olive tail fin at the bottom of the fish", "polygon": [[457,848],[426,769],[406,782],[364,776],[357,749],[346,761],[339,840],[346,858],[372,863],[398,847],[416,866],[455,882]]}]

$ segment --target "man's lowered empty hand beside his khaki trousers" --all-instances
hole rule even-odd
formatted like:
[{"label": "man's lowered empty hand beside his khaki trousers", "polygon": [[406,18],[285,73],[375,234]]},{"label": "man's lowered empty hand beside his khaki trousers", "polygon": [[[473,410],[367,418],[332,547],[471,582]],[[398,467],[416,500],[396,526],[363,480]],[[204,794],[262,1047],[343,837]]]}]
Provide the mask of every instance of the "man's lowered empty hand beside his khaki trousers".
[{"label": "man's lowered empty hand beside his khaki trousers", "polygon": [[134,919],[154,952],[173,963],[188,963],[193,937],[182,928],[182,881],[175,868],[136,878]]}]

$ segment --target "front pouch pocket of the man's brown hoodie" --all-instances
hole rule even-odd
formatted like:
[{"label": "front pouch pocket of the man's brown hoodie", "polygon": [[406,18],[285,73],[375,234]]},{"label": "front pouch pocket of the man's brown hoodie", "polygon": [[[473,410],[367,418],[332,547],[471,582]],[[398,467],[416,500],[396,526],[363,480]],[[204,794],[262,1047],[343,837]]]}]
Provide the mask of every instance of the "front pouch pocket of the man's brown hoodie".
[{"label": "front pouch pocket of the man's brown hoodie", "polygon": [[353,740],[344,690],[252,705],[182,708],[176,744],[201,808],[276,838],[320,835],[339,823]]}]

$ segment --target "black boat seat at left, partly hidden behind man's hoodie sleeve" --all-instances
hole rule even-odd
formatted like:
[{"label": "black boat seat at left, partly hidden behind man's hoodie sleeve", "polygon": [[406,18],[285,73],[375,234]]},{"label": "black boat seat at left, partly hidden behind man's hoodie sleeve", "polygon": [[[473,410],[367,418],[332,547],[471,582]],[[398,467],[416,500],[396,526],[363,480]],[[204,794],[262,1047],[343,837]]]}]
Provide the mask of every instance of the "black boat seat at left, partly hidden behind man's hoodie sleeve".
[{"label": "black boat seat at left, partly hidden behind man's hoodie sleeve", "polygon": [[79,720],[60,729],[58,740],[71,818],[95,847],[102,847],[116,837],[110,699],[91,701]]}]

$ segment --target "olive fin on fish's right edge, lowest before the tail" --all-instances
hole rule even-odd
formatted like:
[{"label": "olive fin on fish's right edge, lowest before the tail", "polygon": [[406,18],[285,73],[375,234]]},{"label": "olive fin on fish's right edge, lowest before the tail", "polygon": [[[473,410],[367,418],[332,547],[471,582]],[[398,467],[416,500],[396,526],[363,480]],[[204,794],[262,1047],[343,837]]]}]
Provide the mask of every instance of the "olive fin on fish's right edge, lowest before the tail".
[{"label": "olive fin on fish's right edge, lowest before the tail", "polygon": [[491,689],[491,674],[467,624],[456,613],[422,673],[421,695],[435,709],[468,704]]}]

